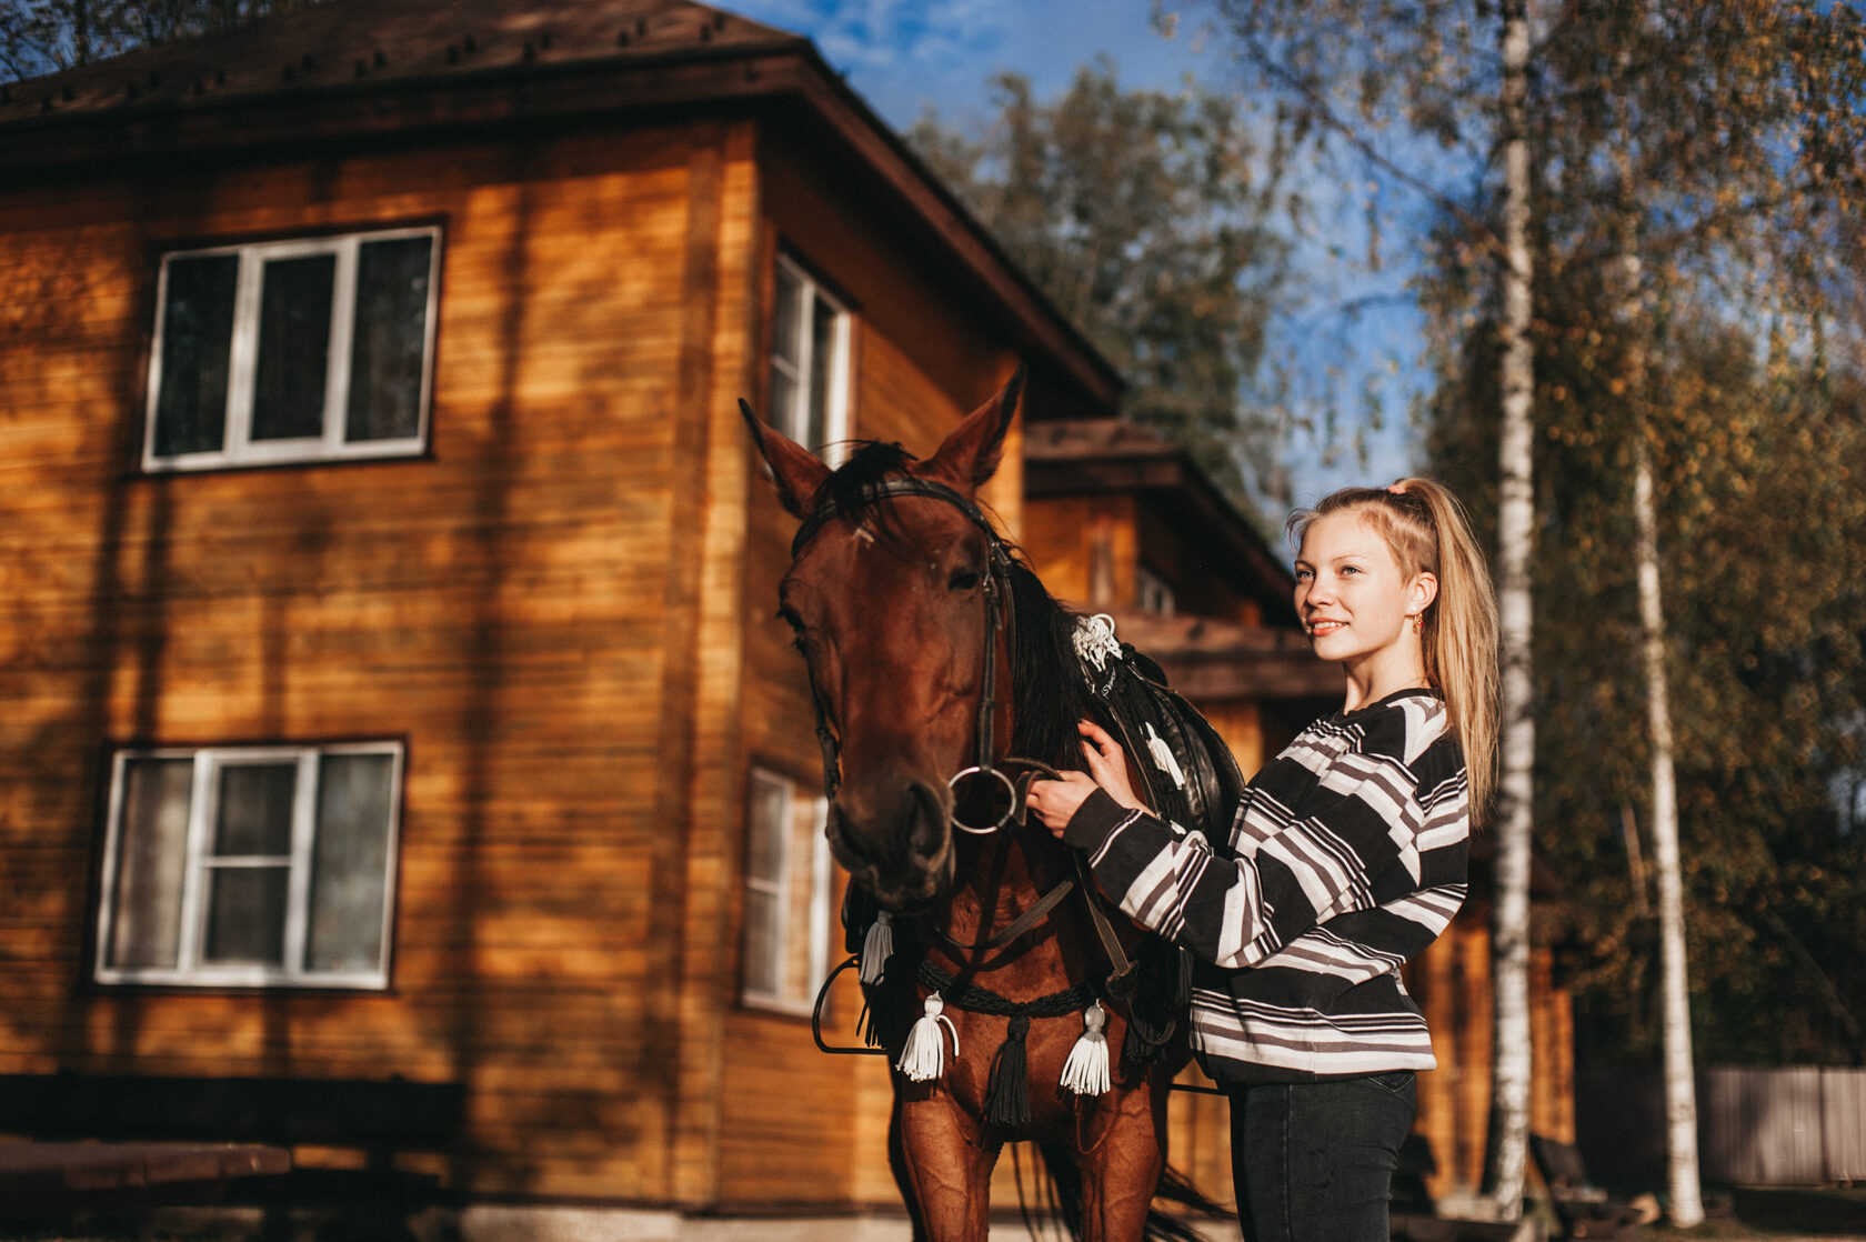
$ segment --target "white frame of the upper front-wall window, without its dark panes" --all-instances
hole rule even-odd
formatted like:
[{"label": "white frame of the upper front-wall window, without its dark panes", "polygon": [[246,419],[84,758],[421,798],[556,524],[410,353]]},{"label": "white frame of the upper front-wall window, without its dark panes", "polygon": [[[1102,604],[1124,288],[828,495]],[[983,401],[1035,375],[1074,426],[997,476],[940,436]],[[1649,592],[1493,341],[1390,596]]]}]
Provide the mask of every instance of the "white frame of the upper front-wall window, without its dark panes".
[{"label": "white frame of the upper front-wall window, without its dark panes", "polygon": [[[356,260],[369,241],[403,237],[431,239],[427,250],[427,314],[422,338],[422,394],[416,433],[401,439],[343,439],[349,409],[351,346],[356,327]],[[174,260],[239,256],[233,280],[233,340],[228,359],[228,409],[218,450],[157,456],[155,415],[162,396],[162,334],[168,325],[168,265]],[[252,402],[259,366],[259,303],[265,265],[272,260],[336,256],[330,289],[330,347],[325,360],[325,430],[319,437],[254,441]],[[147,473],[215,471],[243,465],[293,461],[351,461],[369,458],[411,458],[427,450],[427,415],[435,383],[435,331],[440,308],[440,228],[390,228],[364,233],[261,241],[162,254],[155,289],[155,344],[149,349],[149,394],[144,407],[142,469]]]}]

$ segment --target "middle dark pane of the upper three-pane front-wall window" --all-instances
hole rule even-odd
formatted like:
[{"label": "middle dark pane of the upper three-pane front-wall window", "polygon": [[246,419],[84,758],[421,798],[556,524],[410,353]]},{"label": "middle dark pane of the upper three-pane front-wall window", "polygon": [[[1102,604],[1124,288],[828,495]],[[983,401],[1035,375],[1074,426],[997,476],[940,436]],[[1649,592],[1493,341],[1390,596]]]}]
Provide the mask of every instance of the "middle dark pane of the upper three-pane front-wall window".
[{"label": "middle dark pane of the upper three-pane front-wall window", "polygon": [[259,289],[259,366],[252,388],[252,439],[325,433],[334,254],[272,260]]}]

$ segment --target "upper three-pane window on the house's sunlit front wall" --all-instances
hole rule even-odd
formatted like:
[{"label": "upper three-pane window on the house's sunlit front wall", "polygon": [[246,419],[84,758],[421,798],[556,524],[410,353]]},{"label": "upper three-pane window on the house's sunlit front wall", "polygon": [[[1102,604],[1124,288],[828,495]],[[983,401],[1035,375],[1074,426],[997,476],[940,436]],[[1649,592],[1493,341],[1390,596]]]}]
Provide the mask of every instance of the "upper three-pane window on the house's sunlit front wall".
[{"label": "upper three-pane window on the house's sunlit front wall", "polygon": [[422,452],[439,230],[162,256],[146,471]]}]

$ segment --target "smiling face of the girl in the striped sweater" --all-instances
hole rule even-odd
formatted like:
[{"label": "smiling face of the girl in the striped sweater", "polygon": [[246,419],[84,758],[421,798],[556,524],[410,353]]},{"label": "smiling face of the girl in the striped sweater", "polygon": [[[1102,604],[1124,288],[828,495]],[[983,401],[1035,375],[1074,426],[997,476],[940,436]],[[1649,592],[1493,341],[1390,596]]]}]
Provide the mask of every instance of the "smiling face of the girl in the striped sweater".
[{"label": "smiling face of the girl in the striped sweater", "polygon": [[1405,577],[1386,540],[1355,510],[1317,517],[1295,558],[1295,611],[1316,654],[1358,663],[1405,646],[1413,616],[1431,601],[1431,573]]}]

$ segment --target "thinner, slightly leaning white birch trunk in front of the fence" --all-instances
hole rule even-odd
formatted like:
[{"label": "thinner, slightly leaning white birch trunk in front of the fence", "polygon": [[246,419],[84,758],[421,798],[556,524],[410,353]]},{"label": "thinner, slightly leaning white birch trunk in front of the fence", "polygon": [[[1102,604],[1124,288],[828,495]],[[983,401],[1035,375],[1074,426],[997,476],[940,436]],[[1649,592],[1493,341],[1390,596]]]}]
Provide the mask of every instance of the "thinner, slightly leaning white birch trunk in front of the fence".
[{"label": "thinner, slightly leaning white birch trunk in front of the fence", "polygon": [[1633,441],[1633,512],[1638,527],[1638,613],[1644,631],[1646,717],[1651,730],[1651,854],[1659,874],[1659,977],[1664,1027],[1666,1188],[1672,1225],[1704,1220],[1698,1186],[1698,1094],[1691,1063],[1691,988],[1685,966],[1685,882],[1672,783],[1672,699],[1664,682],[1664,609],[1659,598],[1659,517],[1644,433]]}]

